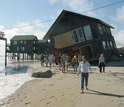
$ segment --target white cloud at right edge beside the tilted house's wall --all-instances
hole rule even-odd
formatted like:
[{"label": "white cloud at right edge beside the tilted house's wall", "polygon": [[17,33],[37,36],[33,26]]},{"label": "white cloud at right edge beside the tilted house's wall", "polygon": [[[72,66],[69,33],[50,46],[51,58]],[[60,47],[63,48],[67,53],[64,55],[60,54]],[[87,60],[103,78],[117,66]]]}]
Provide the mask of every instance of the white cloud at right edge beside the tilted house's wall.
[{"label": "white cloud at right edge beside the tilted house's wall", "polygon": [[124,29],[114,36],[117,47],[124,47]]}]

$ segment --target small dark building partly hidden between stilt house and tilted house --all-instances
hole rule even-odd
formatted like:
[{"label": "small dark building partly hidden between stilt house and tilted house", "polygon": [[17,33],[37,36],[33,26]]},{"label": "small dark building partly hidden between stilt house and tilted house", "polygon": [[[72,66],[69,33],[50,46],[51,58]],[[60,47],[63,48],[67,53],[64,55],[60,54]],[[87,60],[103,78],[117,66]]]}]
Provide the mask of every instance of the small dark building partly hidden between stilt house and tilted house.
[{"label": "small dark building partly hidden between stilt house and tilted house", "polygon": [[38,54],[49,54],[49,43],[47,40],[38,41]]}]

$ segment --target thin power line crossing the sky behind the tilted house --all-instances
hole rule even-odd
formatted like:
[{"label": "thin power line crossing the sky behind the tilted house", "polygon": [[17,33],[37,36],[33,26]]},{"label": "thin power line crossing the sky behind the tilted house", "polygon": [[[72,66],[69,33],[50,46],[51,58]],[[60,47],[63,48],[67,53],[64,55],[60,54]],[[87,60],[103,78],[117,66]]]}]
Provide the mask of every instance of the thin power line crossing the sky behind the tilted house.
[{"label": "thin power line crossing the sky behind the tilted house", "polygon": [[[91,9],[91,10],[83,11],[83,12],[80,12],[80,13],[87,13],[87,12],[90,12],[90,11],[94,11],[94,10],[106,8],[106,7],[109,7],[109,6],[113,6],[113,5],[122,3],[122,2],[124,2],[124,0],[118,1],[118,2],[115,2],[115,3],[111,3],[111,4],[108,4],[108,5],[104,5],[104,6],[101,6],[101,7],[97,7],[97,8]],[[27,27],[27,26],[34,26],[34,25],[37,25],[37,24],[47,23],[47,22],[51,22],[51,21],[55,21],[55,20],[56,19],[51,19],[51,20],[46,20],[46,21],[43,21],[43,22],[31,23],[31,24],[27,24],[27,25],[23,25],[23,26],[17,26],[17,27],[8,28],[8,29],[1,29],[1,30],[10,30],[10,29],[15,29],[15,28],[22,28],[22,27]]]}]

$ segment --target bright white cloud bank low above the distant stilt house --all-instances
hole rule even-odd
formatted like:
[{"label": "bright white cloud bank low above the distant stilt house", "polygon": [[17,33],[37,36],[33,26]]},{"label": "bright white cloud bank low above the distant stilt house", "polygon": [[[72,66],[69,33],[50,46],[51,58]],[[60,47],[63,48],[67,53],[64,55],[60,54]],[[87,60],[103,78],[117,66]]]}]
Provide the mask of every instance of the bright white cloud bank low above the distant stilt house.
[{"label": "bright white cloud bank low above the distant stilt house", "polygon": [[[35,20],[33,23],[38,23],[38,22],[41,22],[41,20]],[[17,22],[15,26],[19,27],[19,26],[25,26],[28,24],[29,24],[28,22]],[[47,26],[48,25],[46,23],[45,24],[43,23],[41,25],[26,26],[26,27],[14,28],[9,30],[3,30],[3,32],[5,33],[5,37],[7,38],[8,43],[10,43],[10,39],[14,35],[35,35],[38,37],[38,39],[42,39],[46,34],[46,31],[42,30],[42,28],[46,28]],[[2,29],[5,29],[5,27],[3,25],[0,25],[0,31]],[[4,49],[4,42],[0,43],[0,55],[4,54],[4,52],[1,51],[3,49]]]}]

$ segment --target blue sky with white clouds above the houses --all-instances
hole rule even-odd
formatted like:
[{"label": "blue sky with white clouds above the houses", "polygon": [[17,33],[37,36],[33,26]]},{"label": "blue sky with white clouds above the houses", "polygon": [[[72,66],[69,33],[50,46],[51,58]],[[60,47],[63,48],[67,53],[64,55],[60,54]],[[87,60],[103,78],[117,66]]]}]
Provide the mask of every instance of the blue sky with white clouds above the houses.
[{"label": "blue sky with white clouds above the houses", "polygon": [[[38,39],[42,39],[54,21],[23,28],[9,28],[56,19],[62,10],[81,13],[118,1],[122,0],[0,0],[0,31],[5,33],[8,42],[14,35],[24,34],[36,35]],[[117,47],[124,46],[124,2],[81,14],[114,26],[112,35]],[[4,45],[4,41],[0,41],[0,55],[4,54]]]}]

